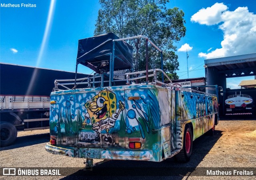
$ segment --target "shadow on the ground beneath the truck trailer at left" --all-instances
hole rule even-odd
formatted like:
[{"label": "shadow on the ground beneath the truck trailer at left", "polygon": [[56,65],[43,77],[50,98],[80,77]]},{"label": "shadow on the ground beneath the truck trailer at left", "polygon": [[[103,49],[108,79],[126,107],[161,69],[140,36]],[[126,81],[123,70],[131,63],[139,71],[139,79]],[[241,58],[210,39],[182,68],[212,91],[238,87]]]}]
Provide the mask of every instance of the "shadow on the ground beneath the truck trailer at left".
[{"label": "shadow on the ground beneath the truck trailer at left", "polygon": [[15,149],[19,147],[25,147],[25,146],[31,146],[31,145],[36,145],[40,143],[46,143],[49,141],[49,139],[50,139],[50,133],[21,136],[21,137],[17,137],[16,141],[12,145],[7,147],[1,147],[0,151]]}]

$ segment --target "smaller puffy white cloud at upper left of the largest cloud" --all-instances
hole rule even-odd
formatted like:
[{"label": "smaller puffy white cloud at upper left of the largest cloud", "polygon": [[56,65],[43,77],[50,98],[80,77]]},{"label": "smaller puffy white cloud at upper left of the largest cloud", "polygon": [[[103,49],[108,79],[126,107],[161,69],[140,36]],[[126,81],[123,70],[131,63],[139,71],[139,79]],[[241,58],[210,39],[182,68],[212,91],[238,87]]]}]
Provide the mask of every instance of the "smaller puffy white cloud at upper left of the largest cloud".
[{"label": "smaller puffy white cloud at upper left of the largest cloud", "polygon": [[191,16],[190,21],[206,25],[218,24],[222,22],[222,12],[227,9],[228,7],[223,3],[215,3],[211,7],[200,9],[196,14]]}]

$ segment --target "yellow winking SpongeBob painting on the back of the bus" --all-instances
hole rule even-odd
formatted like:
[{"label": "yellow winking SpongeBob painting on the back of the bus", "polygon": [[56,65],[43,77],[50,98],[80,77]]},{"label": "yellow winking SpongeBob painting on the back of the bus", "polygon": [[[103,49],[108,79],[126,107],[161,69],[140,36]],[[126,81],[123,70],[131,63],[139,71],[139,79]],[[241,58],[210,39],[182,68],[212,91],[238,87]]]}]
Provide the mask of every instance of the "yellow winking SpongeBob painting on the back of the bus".
[{"label": "yellow winking SpongeBob painting on the back of the bus", "polygon": [[96,96],[92,97],[85,103],[87,110],[82,128],[88,124],[92,124],[92,129],[100,137],[101,131],[106,131],[107,137],[104,141],[112,143],[109,131],[115,126],[116,119],[121,111],[124,110],[124,104],[119,100],[119,109],[117,111],[116,94],[104,89]]}]

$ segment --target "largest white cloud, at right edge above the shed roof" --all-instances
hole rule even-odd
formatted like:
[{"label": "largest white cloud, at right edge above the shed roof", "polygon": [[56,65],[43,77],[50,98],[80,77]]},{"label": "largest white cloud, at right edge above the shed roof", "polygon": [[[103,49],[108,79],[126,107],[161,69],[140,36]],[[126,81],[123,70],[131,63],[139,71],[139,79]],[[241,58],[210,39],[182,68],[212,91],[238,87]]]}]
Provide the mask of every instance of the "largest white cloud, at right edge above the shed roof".
[{"label": "largest white cloud, at right edge above the shed roof", "polygon": [[[223,31],[223,40],[220,43],[221,48],[215,49],[209,53],[201,52],[198,56],[206,59],[212,59],[256,53],[256,15],[249,12],[247,7],[238,7],[234,11],[225,11],[222,7],[225,6],[223,3],[216,4],[221,4],[219,7],[220,10],[218,11],[221,12],[221,18],[219,18],[219,20],[222,22],[219,25],[219,29]],[[208,8],[203,10],[207,9]],[[200,11],[201,10],[197,13]],[[212,18],[213,20],[211,20],[211,16],[208,16],[204,24],[209,25],[213,24],[211,22],[217,22],[216,16],[212,16]],[[196,22],[202,24],[201,20],[197,20]],[[208,51],[210,50],[211,49],[208,49]]]}]

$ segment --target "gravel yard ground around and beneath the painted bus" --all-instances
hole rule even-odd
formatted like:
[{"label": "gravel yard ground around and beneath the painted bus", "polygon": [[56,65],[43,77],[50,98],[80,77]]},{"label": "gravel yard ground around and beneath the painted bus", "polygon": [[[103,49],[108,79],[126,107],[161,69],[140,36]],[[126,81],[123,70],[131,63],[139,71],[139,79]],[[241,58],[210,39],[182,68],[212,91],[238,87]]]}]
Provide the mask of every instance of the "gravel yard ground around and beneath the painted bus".
[{"label": "gravel yard ground around and beneath the painted bus", "polygon": [[[84,167],[84,159],[70,158],[61,155],[53,155],[45,151],[44,146],[49,141],[48,129],[36,131],[18,132],[18,138],[14,145],[3,147],[0,151],[0,167]],[[97,167],[134,168],[132,173],[145,170],[149,173],[154,170],[170,170],[172,168],[189,167],[256,167],[256,121],[254,120],[222,120],[216,126],[214,136],[206,136],[196,139],[193,143],[193,154],[190,162],[180,164],[170,158],[163,162],[145,161],[108,161]],[[94,162],[99,162],[94,160]],[[1,179],[79,179],[86,178],[85,171],[78,171],[84,177],[76,176],[0,176]],[[93,171],[97,172],[97,170]],[[113,171],[114,172],[114,171]],[[256,172],[254,172],[256,173]],[[74,173],[73,175],[76,175]],[[110,176],[104,177],[108,178]],[[92,179],[103,177],[91,176]],[[134,176],[113,176],[113,179],[134,179]],[[140,179],[256,179],[256,176],[142,176]]]}]

